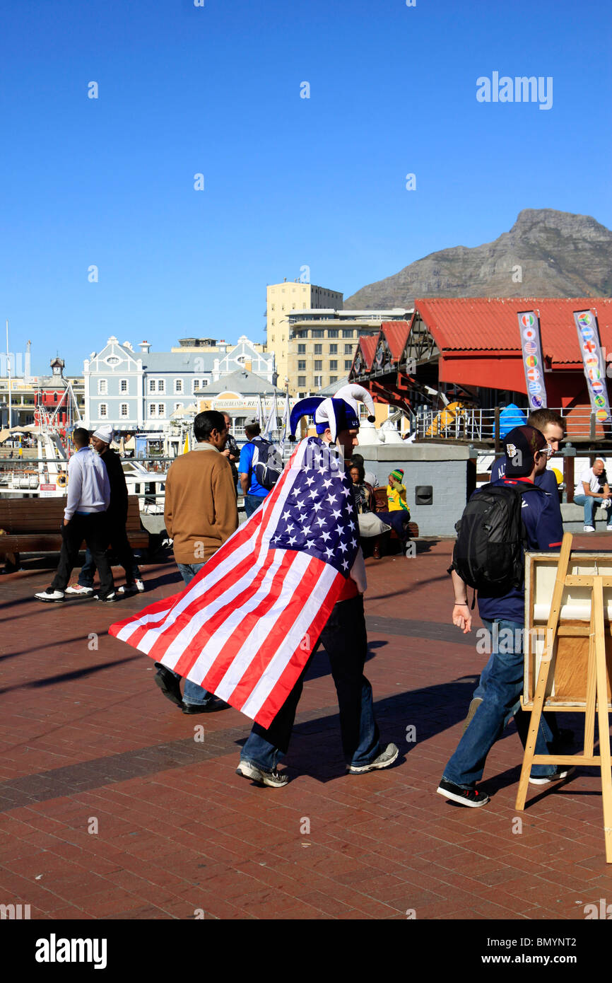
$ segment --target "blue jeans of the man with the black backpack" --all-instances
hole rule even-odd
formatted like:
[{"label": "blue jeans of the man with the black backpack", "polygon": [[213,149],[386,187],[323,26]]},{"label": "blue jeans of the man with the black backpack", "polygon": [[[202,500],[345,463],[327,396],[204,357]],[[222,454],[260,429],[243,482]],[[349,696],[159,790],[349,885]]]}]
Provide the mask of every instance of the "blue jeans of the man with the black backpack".
[{"label": "blue jeans of the man with the black backpack", "polygon": [[[483,618],[482,623],[492,634],[493,622]],[[514,712],[523,692],[525,625],[521,621],[505,619],[496,619],[496,624],[501,637],[492,634],[492,665],[485,677],[482,703],[444,769],[443,779],[463,788],[473,788],[476,781],[482,778],[486,756],[501,736],[506,719]],[[505,629],[509,629],[509,632]],[[525,747],[529,731],[528,714],[517,713],[517,718],[519,736]],[[542,715],[535,741],[535,754],[550,754],[550,736],[550,729]],[[556,771],[556,765],[533,765],[531,778],[544,778]]]}]

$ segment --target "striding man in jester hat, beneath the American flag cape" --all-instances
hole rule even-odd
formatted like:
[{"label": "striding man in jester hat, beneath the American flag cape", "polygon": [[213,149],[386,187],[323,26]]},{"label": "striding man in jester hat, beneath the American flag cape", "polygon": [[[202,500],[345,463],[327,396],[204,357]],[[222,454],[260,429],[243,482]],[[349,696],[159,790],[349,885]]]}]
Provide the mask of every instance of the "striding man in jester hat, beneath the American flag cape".
[{"label": "striding man in jester hat, beneath the American flag cape", "polygon": [[[311,397],[299,402],[291,415],[292,434],[295,434],[302,416],[314,413],[316,432],[322,443],[327,446],[338,443],[345,459],[349,458],[358,443],[357,434],[360,426],[356,402],[359,396],[355,392],[357,388],[357,386],[352,387],[352,398],[324,400],[320,397]],[[367,395],[369,396],[369,393]],[[299,524],[297,530],[292,527],[295,537],[314,535],[309,533],[308,529],[317,528],[319,512],[321,515],[324,514],[321,509],[329,501],[328,487],[331,484],[331,481],[323,481],[320,491],[308,492],[306,506],[299,503],[296,505],[296,515],[294,516],[293,512],[291,514],[291,522],[295,521]],[[317,488],[313,481],[312,487]],[[348,483],[344,492],[347,495],[351,494]],[[305,508],[306,518],[298,515],[298,512]],[[336,514],[340,515],[340,511],[337,510]],[[312,526],[308,526],[307,516],[311,517]],[[322,519],[321,522],[324,525]],[[279,759],[287,753],[296,710],[304,688],[306,669],[318,644],[323,645],[329,657],[336,686],[347,771],[351,775],[362,775],[365,772],[388,768],[396,760],[399,754],[396,745],[380,744],[378,726],[374,717],[372,689],[363,675],[367,654],[367,635],[363,616],[365,587],[365,566],[362,550],[358,549],[357,558],[350,575],[347,576],[340,598],[332,608],[318,642],[285,703],[268,727],[253,723],[250,736],[241,752],[238,775],[273,788],[281,788],[289,781],[287,774],[279,773],[276,766]],[[288,589],[294,590],[295,585],[290,585]]]}]

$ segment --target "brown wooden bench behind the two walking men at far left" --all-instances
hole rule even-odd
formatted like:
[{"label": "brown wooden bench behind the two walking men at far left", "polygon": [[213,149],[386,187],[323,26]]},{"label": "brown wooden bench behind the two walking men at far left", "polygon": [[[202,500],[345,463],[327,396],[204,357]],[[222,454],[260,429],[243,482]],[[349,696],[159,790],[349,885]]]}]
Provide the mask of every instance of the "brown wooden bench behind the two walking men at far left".
[{"label": "brown wooden bench behind the two walking men at far left", "polygon": [[[20,565],[23,552],[59,552],[66,498],[0,498],[0,558]],[[126,531],[130,546],[148,547],[140,524],[138,495],[128,497]]]}]

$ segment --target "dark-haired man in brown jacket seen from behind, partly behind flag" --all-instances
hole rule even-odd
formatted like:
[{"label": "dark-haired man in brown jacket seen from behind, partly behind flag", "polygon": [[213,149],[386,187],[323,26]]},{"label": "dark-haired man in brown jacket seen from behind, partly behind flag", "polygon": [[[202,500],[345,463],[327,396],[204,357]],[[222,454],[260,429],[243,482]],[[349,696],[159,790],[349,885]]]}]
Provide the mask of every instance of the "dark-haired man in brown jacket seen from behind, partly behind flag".
[{"label": "dark-haired man in brown jacket seen from behind, partly behind flag", "polygon": [[[186,584],[238,528],[232,469],[222,454],[227,440],[223,415],[216,410],[198,413],[194,436],[194,449],[170,465],[164,502],[166,530],[174,540],[174,557]],[[165,665],[155,665],[155,682],[184,714],[225,708],[226,704],[191,679],[186,680],[181,696],[181,676]]]}]

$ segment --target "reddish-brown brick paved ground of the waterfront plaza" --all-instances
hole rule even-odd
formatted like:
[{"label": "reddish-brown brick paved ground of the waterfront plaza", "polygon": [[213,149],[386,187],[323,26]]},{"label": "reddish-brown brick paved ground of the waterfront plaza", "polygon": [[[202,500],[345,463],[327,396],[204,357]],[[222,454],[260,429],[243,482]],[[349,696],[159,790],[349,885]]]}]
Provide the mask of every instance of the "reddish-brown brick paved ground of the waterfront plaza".
[{"label": "reddish-brown brick paved ground of the waterfront plaza", "polygon": [[114,607],[40,605],[31,596],[50,577],[32,566],[2,577],[0,902],[54,919],[193,918],[196,909],[223,919],[399,919],[409,909],[418,919],[582,919],[584,904],[612,897],[594,770],[556,791],[531,789],[523,832],[513,833],[521,746],[512,726],[487,762],[487,807],[435,794],[482,657],[448,623],[450,543],[419,547],[412,559],[367,560],[366,673],[382,735],[401,748],[397,764],[344,774],[319,653],[283,789],[235,774],[246,718],[181,714],[154,686],[149,660],[105,633],[178,590],[170,560],[144,568],[144,597]]}]

